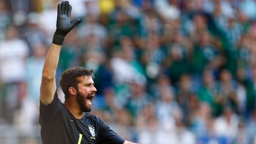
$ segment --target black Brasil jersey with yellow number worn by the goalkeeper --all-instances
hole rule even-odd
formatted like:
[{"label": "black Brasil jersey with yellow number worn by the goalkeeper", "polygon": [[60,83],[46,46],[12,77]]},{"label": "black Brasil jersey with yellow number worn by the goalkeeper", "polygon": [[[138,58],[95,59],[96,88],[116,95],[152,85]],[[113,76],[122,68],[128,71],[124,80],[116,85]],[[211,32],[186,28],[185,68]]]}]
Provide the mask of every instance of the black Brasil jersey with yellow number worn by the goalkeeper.
[{"label": "black Brasil jersey with yellow number worn by the goalkeeper", "polygon": [[43,144],[123,144],[124,139],[95,115],[75,118],[61,103],[57,90],[49,105],[40,101],[39,123]]}]

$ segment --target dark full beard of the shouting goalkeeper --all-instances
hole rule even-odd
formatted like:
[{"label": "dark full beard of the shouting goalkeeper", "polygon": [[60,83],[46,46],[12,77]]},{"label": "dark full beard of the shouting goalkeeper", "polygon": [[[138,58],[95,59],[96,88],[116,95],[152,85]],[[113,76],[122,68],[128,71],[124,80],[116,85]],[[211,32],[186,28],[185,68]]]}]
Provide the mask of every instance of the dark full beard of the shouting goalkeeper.
[{"label": "dark full beard of the shouting goalkeeper", "polygon": [[76,96],[76,102],[80,106],[81,110],[85,113],[88,113],[91,111],[91,105],[87,105],[86,99],[88,96],[92,94],[95,94],[95,92],[92,92],[90,94],[87,94],[87,96],[85,96],[84,94],[81,94],[81,92],[78,91],[78,94]]}]

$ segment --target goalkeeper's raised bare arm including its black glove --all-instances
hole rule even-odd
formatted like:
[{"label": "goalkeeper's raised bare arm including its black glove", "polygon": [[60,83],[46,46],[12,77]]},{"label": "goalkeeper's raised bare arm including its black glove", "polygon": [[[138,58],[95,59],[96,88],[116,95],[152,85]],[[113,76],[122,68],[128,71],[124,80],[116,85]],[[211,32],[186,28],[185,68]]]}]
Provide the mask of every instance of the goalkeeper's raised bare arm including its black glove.
[{"label": "goalkeeper's raised bare arm including its black glove", "polygon": [[58,5],[57,28],[45,58],[40,87],[40,100],[45,105],[52,102],[56,91],[55,75],[61,46],[65,36],[72,30],[72,28],[74,28],[74,26],[76,26],[76,24],[81,22],[81,18],[76,18],[75,20],[70,21],[71,9],[72,7],[69,5],[68,1]]}]

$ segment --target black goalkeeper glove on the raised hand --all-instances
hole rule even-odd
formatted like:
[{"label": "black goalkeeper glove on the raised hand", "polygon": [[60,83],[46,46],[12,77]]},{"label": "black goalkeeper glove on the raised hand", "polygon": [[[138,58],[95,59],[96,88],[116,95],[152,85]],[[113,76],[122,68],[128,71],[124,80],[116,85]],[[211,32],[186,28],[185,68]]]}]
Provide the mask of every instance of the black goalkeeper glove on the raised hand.
[{"label": "black goalkeeper glove on the raised hand", "polygon": [[58,4],[57,28],[52,43],[62,45],[67,33],[69,33],[76,24],[79,24],[82,21],[81,18],[76,18],[75,20],[70,21],[71,9],[72,7],[69,5],[68,1]]}]

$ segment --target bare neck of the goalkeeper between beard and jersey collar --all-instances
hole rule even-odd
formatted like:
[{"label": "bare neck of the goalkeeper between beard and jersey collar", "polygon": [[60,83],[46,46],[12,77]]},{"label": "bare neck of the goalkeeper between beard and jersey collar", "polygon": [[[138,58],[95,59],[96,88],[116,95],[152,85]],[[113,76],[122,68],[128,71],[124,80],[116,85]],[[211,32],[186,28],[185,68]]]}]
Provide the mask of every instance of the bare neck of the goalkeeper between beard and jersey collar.
[{"label": "bare neck of the goalkeeper between beard and jersey collar", "polygon": [[80,106],[76,102],[72,102],[72,100],[65,100],[64,105],[69,109],[70,113],[77,118],[81,119],[83,117],[84,112],[81,111]]}]

